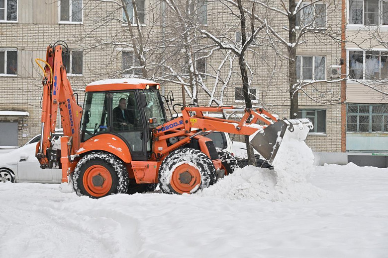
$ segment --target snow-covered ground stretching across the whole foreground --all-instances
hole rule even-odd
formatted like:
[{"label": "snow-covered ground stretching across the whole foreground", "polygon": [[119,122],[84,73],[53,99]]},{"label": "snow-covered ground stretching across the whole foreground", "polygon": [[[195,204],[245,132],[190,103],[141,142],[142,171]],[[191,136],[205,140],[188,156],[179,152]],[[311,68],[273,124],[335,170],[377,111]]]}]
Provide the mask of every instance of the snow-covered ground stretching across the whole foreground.
[{"label": "snow-covered ground stretching across the whole foreground", "polygon": [[270,171],[246,167],[200,194],[97,200],[1,183],[0,257],[388,257],[388,169],[308,178],[277,191]]}]

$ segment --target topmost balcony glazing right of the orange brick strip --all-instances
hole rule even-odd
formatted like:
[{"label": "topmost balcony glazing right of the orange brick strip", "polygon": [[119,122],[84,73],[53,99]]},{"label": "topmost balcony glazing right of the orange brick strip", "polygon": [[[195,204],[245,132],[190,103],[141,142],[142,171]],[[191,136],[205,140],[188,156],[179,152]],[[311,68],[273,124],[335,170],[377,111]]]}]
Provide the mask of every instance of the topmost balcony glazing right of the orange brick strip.
[{"label": "topmost balcony glazing right of the orange brick strip", "polygon": [[384,0],[349,0],[349,24],[388,25],[388,3]]}]

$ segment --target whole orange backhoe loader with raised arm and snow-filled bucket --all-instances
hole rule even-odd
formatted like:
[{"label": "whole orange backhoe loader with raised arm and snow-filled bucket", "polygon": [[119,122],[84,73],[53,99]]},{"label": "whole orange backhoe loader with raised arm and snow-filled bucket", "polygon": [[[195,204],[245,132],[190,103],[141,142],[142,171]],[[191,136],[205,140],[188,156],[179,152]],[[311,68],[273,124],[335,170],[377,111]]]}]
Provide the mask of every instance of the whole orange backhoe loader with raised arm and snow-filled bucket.
[{"label": "whole orange backhoe loader with raised arm and snow-filled bucket", "polygon": [[[83,109],[67,79],[62,57],[65,43],[48,46],[42,100],[42,136],[36,157],[42,168],[62,168],[62,182],[73,181],[77,194],[154,190],[195,193],[233,172],[230,153],[216,149],[206,132],[251,135],[253,147],[271,163],[284,135],[304,140],[308,119],[278,120],[264,109],[182,106],[182,115],[167,120],[158,83],[123,78],[86,86]],[[51,139],[60,110],[64,136],[60,148]],[[207,112],[243,112],[240,121],[205,116]],[[259,123],[260,122],[260,123]],[[259,123],[259,124],[257,124]],[[261,125],[260,125],[261,124]]]}]

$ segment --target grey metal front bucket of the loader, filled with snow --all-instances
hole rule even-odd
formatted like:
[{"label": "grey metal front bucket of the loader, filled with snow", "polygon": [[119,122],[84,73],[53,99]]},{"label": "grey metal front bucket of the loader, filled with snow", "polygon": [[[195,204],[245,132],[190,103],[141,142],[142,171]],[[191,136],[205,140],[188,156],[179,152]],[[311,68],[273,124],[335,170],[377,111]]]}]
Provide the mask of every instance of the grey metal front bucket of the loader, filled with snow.
[{"label": "grey metal front bucket of the loader, filled with snow", "polygon": [[253,148],[272,164],[284,138],[304,141],[312,128],[312,123],[307,118],[279,120],[251,135],[249,140]]}]

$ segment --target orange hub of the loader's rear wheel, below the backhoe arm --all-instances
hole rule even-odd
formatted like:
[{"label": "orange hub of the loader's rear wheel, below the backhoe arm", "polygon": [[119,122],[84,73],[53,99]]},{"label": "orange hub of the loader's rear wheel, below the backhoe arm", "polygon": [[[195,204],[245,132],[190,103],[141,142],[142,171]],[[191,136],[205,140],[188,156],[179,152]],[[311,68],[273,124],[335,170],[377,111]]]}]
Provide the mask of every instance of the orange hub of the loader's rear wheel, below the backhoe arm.
[{"label": "orange hub of the loader's rear wheel, below the backhoe arm", "polygon": [[93,165],[85,171],[83,183],[90,195],[100,197],[112,187],[112,176],[104,166]]}]

